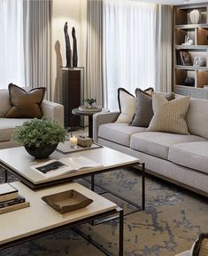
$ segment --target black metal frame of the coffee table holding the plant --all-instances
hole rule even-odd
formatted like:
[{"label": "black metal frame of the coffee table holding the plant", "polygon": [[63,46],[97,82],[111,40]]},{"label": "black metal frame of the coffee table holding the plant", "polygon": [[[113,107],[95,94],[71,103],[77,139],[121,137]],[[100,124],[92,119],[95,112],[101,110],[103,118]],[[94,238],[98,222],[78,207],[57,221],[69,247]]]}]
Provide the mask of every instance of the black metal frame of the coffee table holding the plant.
[{"label": "black metal frame of the coffee table holding the plant", "polygon": [[82,173],[82,174],[78,174],[78,175],[73,176],[73,177],[68,177],[68,178],[58,179],[58,180],[51,180],[51,181],[40,183],[40,184],[34,184],[33,182],[27,180],[25,177],[20,175],[18,172],[9,168],[6,164],[0,163],[0,165],[5,170],[5,182],[7,182],[7,180],[8,180],[7,172],[11,172],[14,176],[16,176],[19,180],[21,180],[22,183],[26,184],[28,188],[31,188],[33,190],[38,189],[38,188],[46,188],[46,187],[54,186],[54,185],[61,184],[61,183],[64,183],[64,182],[68,182],[68,181],[84,178],[84,177],[87,177],[87,176],[91,176],[91,190],[92,191],[95,190],[95,175],[96,174],[100,174],[100,173],[104,173],[104,172],[111,172],[111,171],[114,171],[114,170],[118,170],[119,168],[134,167],[135,165],[136,166],[141,165],[142,166],[142,168],[141,168],[141,170],[142,170],[142,206],[138,205],[138,204],[135,204],[134,202],[128,200],[127,198],[123,198],[122,196],[120,196],[119,194],[116,194],[112,190],[109,190],[109,189],[107,190],[106,188],[102,187],[101,185],[96,185],[96,187],[104,189],[105,191],[111,193],[112,195],[117,196],[120,199],[126,201],[128,204],[134,205],[138,209],[135,212],[145,209],[145,164],[143,162],[138,161],[138,163],[134,163],[134,164],[123,164],[122,166],[118,166],[118,167],[103,169],[103,170],[96,171],[96,172],[93,172],[93,173],[84,173],[84,174]]}]

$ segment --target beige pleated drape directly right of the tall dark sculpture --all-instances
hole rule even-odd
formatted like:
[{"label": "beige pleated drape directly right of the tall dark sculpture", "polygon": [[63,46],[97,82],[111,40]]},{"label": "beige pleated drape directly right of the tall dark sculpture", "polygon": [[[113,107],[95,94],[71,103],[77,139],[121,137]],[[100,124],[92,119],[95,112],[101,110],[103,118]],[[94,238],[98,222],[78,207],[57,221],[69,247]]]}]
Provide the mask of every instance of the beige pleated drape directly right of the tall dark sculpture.
[{"label": "beige pleated drape directly right of the tall dark sculpture", "polygon": [[85,98],[103,106],[103,1],[88,1]]}]

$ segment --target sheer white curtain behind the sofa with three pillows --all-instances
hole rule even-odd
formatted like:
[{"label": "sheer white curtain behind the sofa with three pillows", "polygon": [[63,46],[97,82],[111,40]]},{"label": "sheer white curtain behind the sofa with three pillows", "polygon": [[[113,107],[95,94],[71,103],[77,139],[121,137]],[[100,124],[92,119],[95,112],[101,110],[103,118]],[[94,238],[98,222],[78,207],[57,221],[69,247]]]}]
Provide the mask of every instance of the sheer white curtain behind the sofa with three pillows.
[{"label": "sheer white curtain behind the sofa with three pillows", "polygon": [[104,99],[118,109],[117,89],[156,86],[157,4],[104,1]]}]

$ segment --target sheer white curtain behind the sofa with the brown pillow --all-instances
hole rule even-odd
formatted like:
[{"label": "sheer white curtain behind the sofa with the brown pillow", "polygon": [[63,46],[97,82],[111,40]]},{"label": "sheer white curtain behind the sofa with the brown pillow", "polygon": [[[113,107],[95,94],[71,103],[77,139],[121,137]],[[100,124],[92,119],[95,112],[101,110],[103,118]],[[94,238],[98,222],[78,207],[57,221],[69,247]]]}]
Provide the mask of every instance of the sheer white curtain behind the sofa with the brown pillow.
[{"label": "sheer white curtain behind the sofa with the brown pillow", "polygon": [[0,89],[25,86],[23,0],[0,0]]}]

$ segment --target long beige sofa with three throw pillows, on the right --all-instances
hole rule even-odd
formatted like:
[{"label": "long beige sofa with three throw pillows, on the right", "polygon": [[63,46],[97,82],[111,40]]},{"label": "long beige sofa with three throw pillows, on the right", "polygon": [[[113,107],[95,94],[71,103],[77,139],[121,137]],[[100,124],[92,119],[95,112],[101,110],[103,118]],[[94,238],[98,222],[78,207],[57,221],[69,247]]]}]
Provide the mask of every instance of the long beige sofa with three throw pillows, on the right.
[{"label": "long beige sofa with three throw pillows, on the right", "polygon": [[208,196],[208,100],[191,99],[186,122],[189,135],[145,132],[114,123],[119,112],[93,116],[93,139],[140,158],[148,172]]}]

